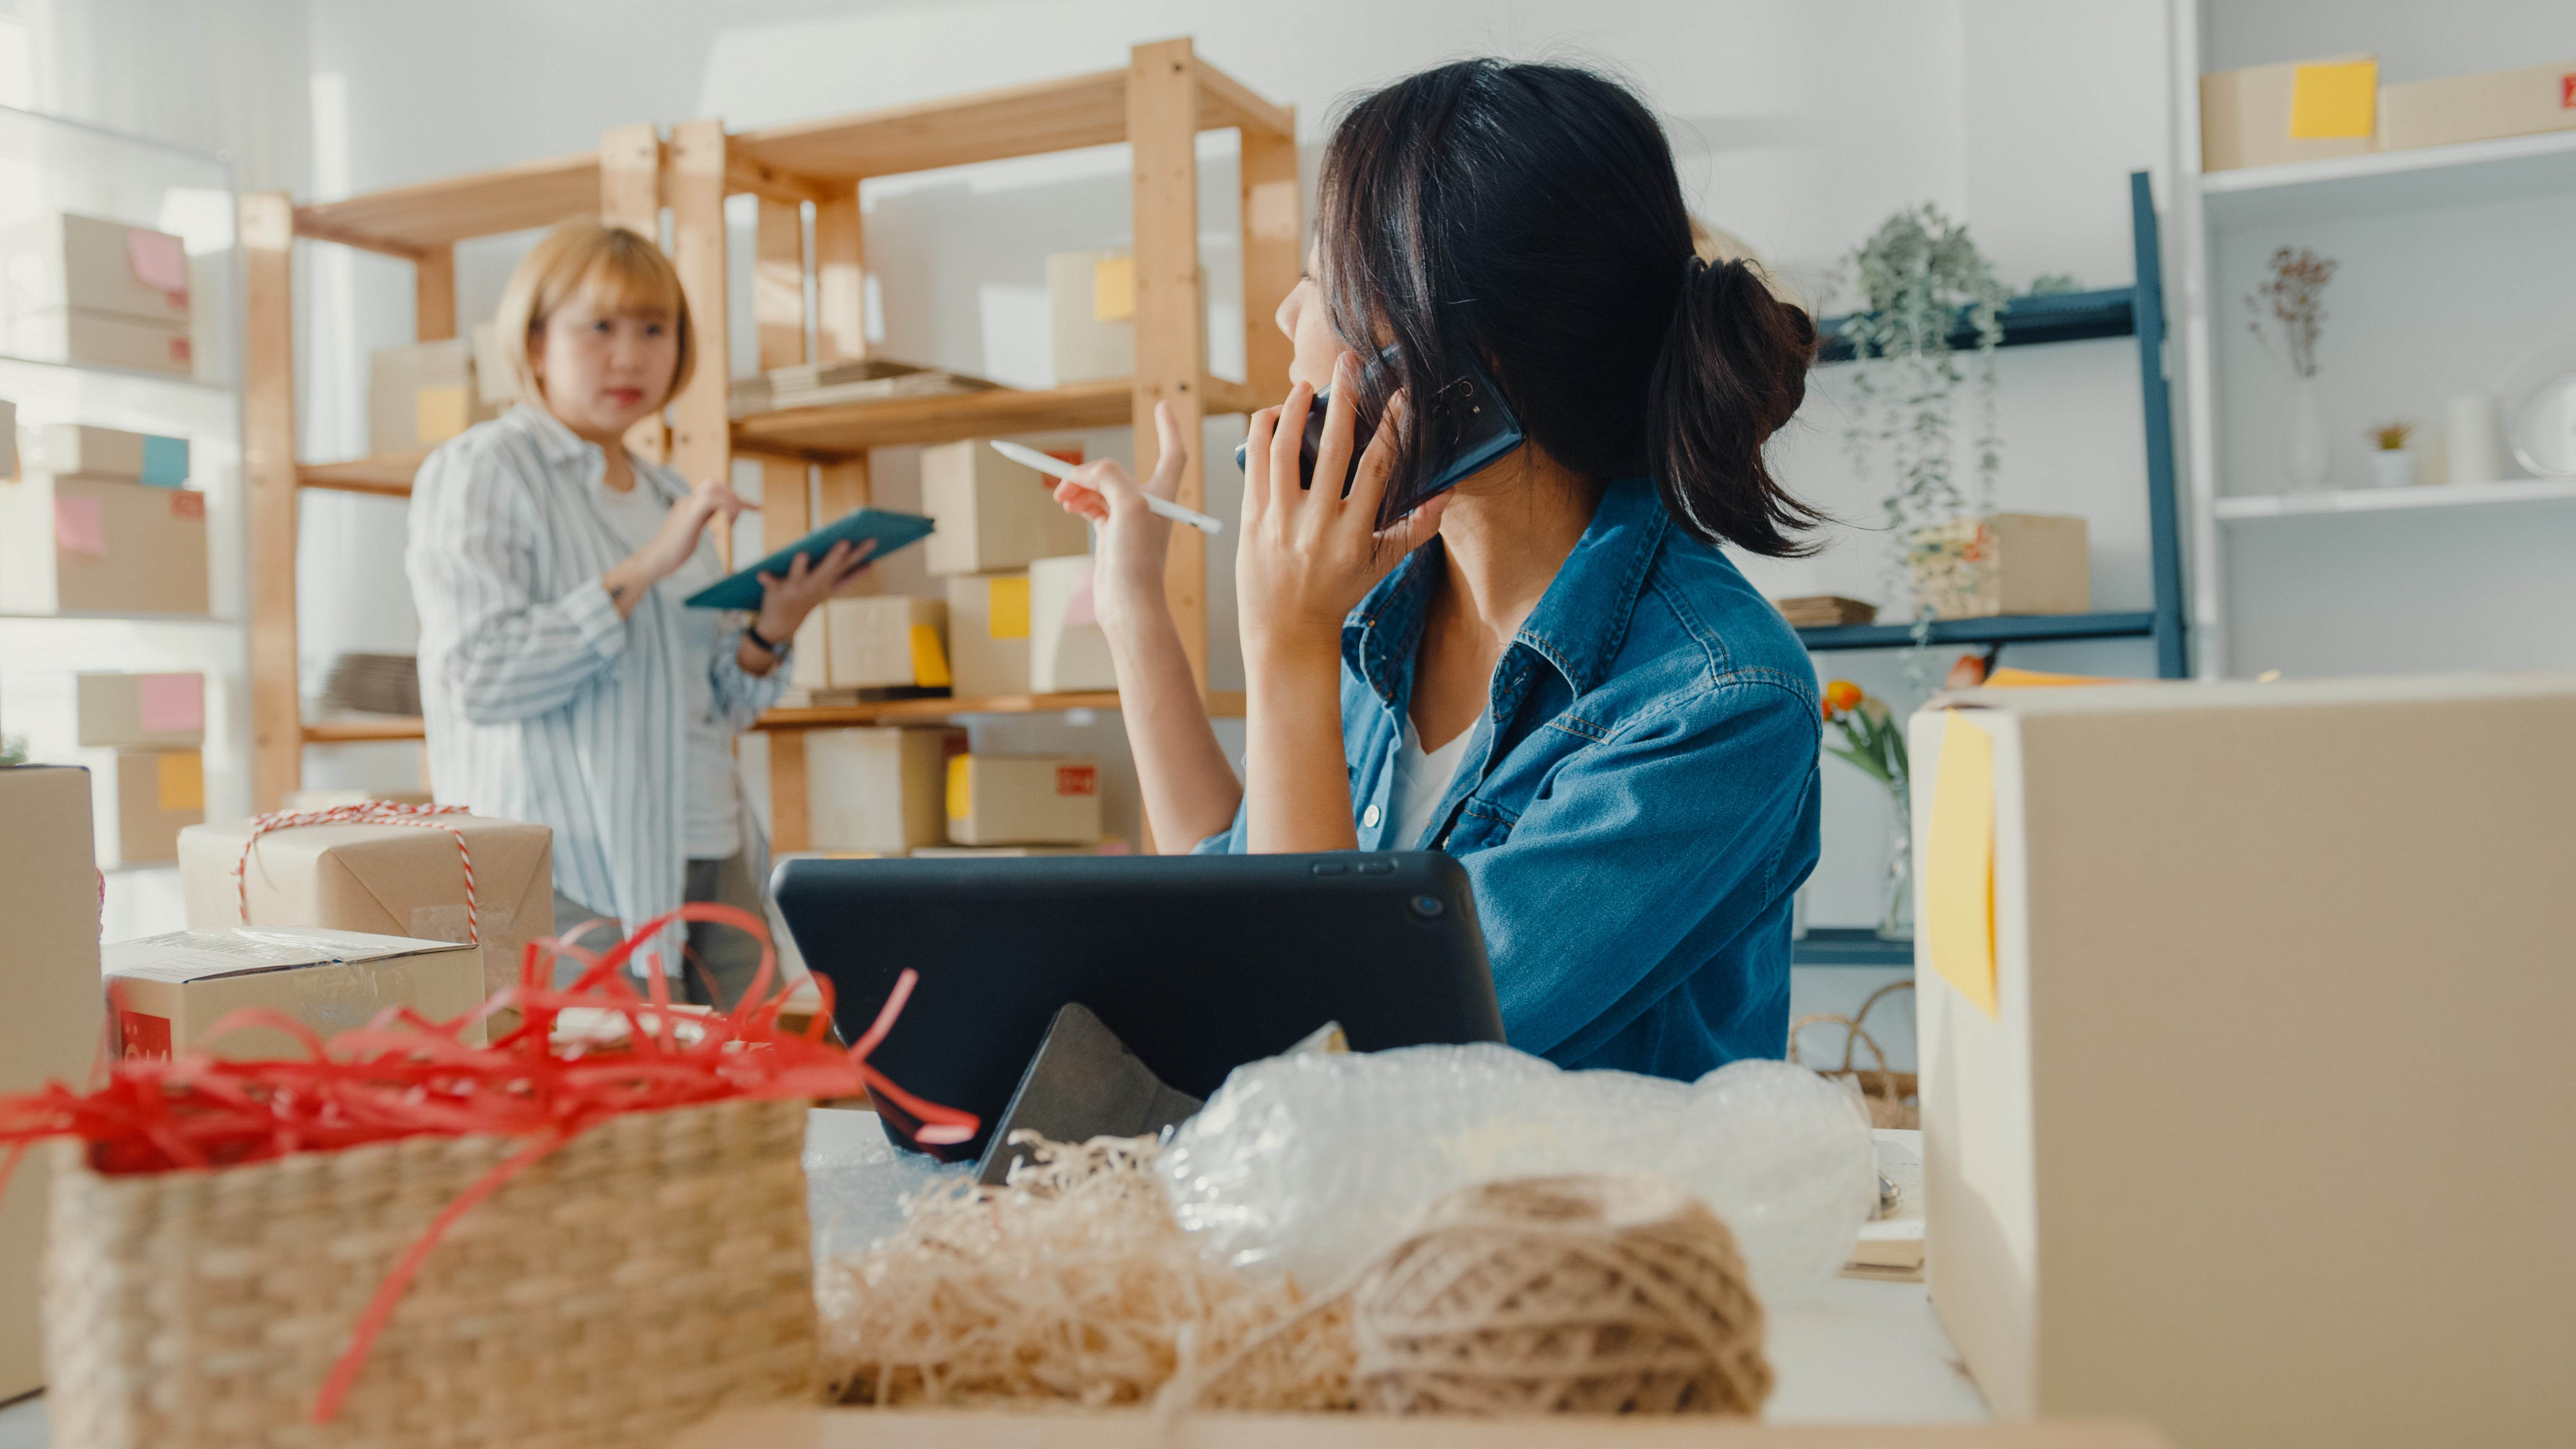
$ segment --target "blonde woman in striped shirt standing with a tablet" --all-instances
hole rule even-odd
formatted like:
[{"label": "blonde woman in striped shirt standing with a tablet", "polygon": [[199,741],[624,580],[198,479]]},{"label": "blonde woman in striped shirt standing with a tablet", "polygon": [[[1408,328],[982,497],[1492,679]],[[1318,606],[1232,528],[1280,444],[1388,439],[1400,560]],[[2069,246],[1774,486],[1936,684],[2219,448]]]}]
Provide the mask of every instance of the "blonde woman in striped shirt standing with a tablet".
[{"label": "blonde woman in striped shirt standing with a tablet", "polygon": [[[683,900],[760,915],[734,735],[783,688],[796,624],[866,565],[848,544],[811,567],[799,557],[762,575],[750,619],[683,606],[721,578],[711,526],[752,505],[623,446],[698,353],[649,240],[554,229],[510,273],[500,338],[518,405],[430,454],[412,485],[404,570],[438,802],[554,830],[559,931],[634,928]],[[688,957],[703,967],[680,972],[688,998],[719,1006],[760,962],[721,926],[690,928]]]}]

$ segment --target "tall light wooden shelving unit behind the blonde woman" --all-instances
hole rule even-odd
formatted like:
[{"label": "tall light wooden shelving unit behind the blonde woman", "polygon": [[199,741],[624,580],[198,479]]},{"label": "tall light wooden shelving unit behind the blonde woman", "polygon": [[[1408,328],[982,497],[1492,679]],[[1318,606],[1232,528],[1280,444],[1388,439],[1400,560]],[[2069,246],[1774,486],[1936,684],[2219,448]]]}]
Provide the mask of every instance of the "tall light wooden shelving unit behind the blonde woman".
[{"label": "tall light wooden shelving unit behind the blonde woman", "polygon": [[[291,245],[296,237],[404,258],[417,273],[417,335],[456,335],[456,242],[600,214],[662,235],[688,291],[706,356],[724,358],[729,335],[726,196],[760,199],[755,227],[752,317],[760,366],[868,356],[866,245],[858,188],[868,178],[1126,142],[1133,150],[1136,209],[1136,376],[1054,389],[1002,389],[889,405],[796,407],[742,420],[726,415],[724,366],[701,366],[667,407],[667,431],[631,441],[688,477],[729,477],[734,456],[762,467],[762,531],[806,534],[868,503],[868,451],[994,433],[1054,428],[1136,428],[1136,464],[1154,467],[1154,405],[1170,400],[1182,436],[1208,415],[1249,413],[1260,387],[1208,371],[1200,330],[1198,131],[1242,131],[1244,315],[1265,317],[1296,286],[1301,263],[1296,111],[1273,106],[1198,59],[1188,39],[1136,46],[1123,70],[1012,85],[953,101],[858,111],[788,126],[726,131],[685,121],[662,139],[654,126],[618,126],[600,150],[477,175],[430,180],[348,201],[294,206],[281,193],[242,201],[250,255],[250,456],[252,714],[255,797],[260,810],[301,779],[307,743],[417,737],[417,719],[301,719],[296,686],[294,549],[296,490],[322,487],[410,495],[425,454],[350,462],[296,462]],[[811,253],[804,206],[814,206]],[[806,291],[817,299],[806,333]],[[1270,327],[1247,335],[1252,379],[1288,374],[1288,340]],[[1206,505],[1193,456],[1180,500]],[[1167,567],[1172,611],[1190,665],[1206,683],[1206,541],[1177,531]],[[1033,714],[1115,709],[1115,694],[1005,699],[904,699],[848,709],[778,709],[760,719],[770,740],[775,848],[806,846],[804,730],[930,722],[956,714]],[[1239,714],[1242,694],[1211,694],[1218,714]]]}]

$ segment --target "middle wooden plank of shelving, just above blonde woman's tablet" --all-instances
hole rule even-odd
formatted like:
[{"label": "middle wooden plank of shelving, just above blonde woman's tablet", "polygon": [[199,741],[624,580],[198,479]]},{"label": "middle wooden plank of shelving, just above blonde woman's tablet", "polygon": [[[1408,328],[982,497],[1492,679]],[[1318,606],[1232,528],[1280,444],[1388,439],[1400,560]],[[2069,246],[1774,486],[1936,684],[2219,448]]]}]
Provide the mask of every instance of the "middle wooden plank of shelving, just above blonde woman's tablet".
[{"label": "middle wooden plank of shelving, just above blonde woman's tablet", "polygon": [[[1203,376],[1208,413],[1265,407],[1242,382]],[[1123,376],[1048,389],[961,392],[956,397],[904,397],[845,402],[837,407],[781,407],[734,420],[734,451],[762,456],[835,459],[899,443],[951,443],[1048,428],[1115,428],[1136,418],[1136,387]]]}]

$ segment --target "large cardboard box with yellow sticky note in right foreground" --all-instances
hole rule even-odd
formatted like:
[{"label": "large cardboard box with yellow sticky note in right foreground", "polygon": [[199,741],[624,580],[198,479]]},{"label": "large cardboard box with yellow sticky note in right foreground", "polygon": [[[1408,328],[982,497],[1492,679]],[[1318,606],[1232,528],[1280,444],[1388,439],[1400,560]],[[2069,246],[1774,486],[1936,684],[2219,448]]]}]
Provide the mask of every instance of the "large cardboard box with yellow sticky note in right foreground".
[{"label": "large cardboard box with yellow sticky note in right foreground", "polygon": [[2566,673],[1914,714],[1929,1294],[1996,1418],[2566,1439],[2571,735]]}]

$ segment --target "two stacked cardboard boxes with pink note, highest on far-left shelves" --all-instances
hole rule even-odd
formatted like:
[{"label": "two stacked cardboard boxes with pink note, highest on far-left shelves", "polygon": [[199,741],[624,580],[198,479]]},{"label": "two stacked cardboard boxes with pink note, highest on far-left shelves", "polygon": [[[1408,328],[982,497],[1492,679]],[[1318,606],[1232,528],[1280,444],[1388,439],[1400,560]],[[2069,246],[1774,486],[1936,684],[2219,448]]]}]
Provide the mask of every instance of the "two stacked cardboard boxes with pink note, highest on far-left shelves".
[{"label": "two stacked cardboard boxes with pink note, highest on far-left shelves", "polygon": [[0,351],[191,376],[188,248],[57,211],[0,232]]}]

